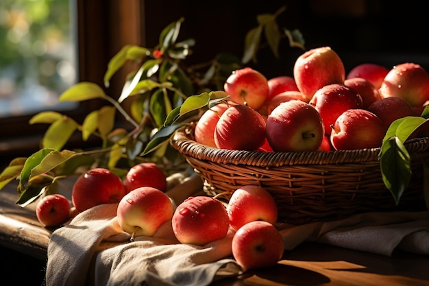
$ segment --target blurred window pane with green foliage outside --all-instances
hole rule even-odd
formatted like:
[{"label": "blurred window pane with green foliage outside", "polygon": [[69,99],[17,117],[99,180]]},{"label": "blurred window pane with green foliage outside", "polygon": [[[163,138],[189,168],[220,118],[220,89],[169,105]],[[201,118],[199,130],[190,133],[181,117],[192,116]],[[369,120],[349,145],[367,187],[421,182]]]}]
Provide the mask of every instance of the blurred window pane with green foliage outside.
[{"label": "blurred window pane with green foliage outside", "polygon": [[0,117],[66,110],[77,80],[73,0],[0,1]]}]

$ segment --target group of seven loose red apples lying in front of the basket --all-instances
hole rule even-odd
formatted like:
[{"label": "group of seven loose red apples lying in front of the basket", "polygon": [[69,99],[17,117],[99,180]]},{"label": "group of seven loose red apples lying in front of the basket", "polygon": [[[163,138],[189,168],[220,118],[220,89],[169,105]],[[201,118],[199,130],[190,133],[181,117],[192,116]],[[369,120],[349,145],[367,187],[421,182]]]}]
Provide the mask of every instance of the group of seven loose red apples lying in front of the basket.
[{"label": "group of seven loose red apples lying in front of the basket", "polygon": [[71,201],[60,194],[46,195],[36,215],[46,227],[60,227],[78,213],[100,204],[118,203],[117,222],[136,237],[169,237],[176,243],[206,246],[219,239],[230,243],[243,270],[275,265],[284,252],[275,223],[278,208],[264,188],[247,185],[234,191],[228,204],[196,195],[175,206],[167,178],[154,163],[141,163],[124,180],[104,168],[88,170],[73,185]]}]

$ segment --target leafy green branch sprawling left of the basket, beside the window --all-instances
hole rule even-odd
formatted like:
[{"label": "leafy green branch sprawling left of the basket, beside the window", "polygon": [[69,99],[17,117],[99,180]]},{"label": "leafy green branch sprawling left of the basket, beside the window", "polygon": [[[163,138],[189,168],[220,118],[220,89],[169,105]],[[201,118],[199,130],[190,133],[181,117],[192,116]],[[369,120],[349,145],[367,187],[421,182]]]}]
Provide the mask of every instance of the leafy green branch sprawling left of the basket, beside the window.
[{"label": "leafy green branch sprawling left of the basket, beside the window", "polygon": [[[280,57],[282,38],[289,38],[291,47],[304,49],[304,38],[298,30],[291,32],[278,27],[278,16],[285,10],[282,7],[274,14],[256,17],[258,25],[247,32],[242,60],[222,53],[213,60],[186,67],[195,40],[180,40],[183,18],[162,30],[154,48],[125,45],[108,62],[104,88],[93,82],[79,82],[59,97],[60,102],[97,99],[106,104],[89,112],[82,123],[60,112],[34,115],[30,124],[49,124],[42,147],[28,158],[12,160],[0,174],[0,189],[12,180],[19,180],[16,203],[27,206],[40,195],[56,193],[61,178],[93,167],[107,167],[121,177],[142,161],[162,165],[167,173],[184,169],[186,160],[169,145],[169,139],[175,130],[188,124],[210,104],[225,99],[221,89],[230,73],[250,61],[256,63],[258,51],[265,47]],[[264,36],[266,45],[262,41]],[[120,95],[107,95],[105,88],[110,86],[112,76],[127,62],[136,70],[125,77]],[[129,111],[121,105],[125,99],[132,100]],[[129,126],[117,126],[117,115]],[[82,133],[83,141],[98,137],[101,146],[89,151],[64,150],[75,132]]]}]

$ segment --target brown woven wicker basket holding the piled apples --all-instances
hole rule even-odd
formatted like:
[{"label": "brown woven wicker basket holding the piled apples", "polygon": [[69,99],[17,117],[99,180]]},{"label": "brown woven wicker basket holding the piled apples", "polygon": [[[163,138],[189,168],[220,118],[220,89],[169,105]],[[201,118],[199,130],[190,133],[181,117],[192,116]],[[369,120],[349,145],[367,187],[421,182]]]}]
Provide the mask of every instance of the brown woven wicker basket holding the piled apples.
[{"label": "brown woven wicker basket holding the piled apples", "polygon": [[290,224],[341,219],[367,211],[421,211],[423,161],[429,138],[406,143],[412,179],[395,205],[382,182],[379,148],[332,152],[249,152],[223,150],[194,141],[193,128],[175,132],[171,145],[204,180],[204,191],[228,202],[245,184],[265,187],[278,205],[278,221]]}]

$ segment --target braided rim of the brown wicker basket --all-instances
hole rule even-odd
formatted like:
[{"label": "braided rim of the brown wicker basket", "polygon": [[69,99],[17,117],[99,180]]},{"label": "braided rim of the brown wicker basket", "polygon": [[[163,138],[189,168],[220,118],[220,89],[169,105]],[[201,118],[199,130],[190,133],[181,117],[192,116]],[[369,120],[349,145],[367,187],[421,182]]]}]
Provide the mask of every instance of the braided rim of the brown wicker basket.
[{"label": "braided rim of the brown wicker basket", "polygon": [[[361,163],[378,160],[380,147],[361,150],[312,151],[312,152],[264,152],[225,150],[197,143],[193,139],[195,123],[177,130],[170,143],[182,155],[219,164],[271,167],[282,165],[324,165]],[[429,151],[429,138],[410,139],[405,144],[410,154]]]}]

